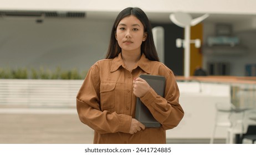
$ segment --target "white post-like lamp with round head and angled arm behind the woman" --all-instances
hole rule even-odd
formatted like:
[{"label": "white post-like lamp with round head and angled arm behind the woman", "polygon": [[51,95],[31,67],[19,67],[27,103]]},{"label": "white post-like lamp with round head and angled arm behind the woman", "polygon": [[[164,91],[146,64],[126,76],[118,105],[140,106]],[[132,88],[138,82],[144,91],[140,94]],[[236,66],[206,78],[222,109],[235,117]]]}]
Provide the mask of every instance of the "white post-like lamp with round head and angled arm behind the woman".
[{"label": "white post-like lamp with round head and angled arm behind the woman", "polygon": [[202,20],[206,19],[209,16],[209,14],[204,14],[201,17],[194,18],[190,16],[188,13],[183,12],[176,12],[170,14],[170,19],[173,23],[178,25],[179,27],[185,28],[185,39],[177,39],[176,40],[176,46],[181,46],[183,44],[183,48],[185,50],[185,59],[184,59],[184,76],[188,77],[190,76],[190,43],[194,43],[196,45],[196,48],[199,48],[201,45],[201,42],[199,39],[190,40],[190,27],[194,26]]}]

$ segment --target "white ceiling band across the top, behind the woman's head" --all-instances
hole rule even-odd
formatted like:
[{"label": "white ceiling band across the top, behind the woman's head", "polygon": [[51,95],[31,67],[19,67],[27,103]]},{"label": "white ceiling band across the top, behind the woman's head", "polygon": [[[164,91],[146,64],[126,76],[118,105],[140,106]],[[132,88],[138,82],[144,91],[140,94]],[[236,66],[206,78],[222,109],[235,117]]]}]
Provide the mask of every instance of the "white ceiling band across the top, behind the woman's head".
[{"label": "white ceiling band across the top, behind the woman's head", "polygon": [[[0,11],[81,11],[86,12],[86,18],[100,20],[114,20],[117,13],[126,7],[140,7],[151,22],[161,23],[170,23],[169,15],[177,11],[191,13],[193,18],[209,13],[203,22],[246,23],[256,27],[255,0],[0,0],[0,3]],[[253,22],[248,22],[251,20]]]}]

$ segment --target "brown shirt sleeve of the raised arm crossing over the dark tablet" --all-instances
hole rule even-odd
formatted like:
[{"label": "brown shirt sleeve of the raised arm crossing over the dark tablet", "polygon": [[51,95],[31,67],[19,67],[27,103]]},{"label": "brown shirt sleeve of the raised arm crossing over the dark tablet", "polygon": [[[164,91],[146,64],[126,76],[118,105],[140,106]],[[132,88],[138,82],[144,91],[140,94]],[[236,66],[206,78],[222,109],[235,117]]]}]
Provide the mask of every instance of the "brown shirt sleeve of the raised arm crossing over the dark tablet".
[{"label": "brown shirt sleeve of the raised arm crossing over the dark tablet", "polygon": [[140,100],[149,108],[153,117],[161,123],[163,129],[168,130],[180,123],[184,111],[179,103],[180,91],[172,71],[165,77],[165,97],[157,95],[151,88]]}]

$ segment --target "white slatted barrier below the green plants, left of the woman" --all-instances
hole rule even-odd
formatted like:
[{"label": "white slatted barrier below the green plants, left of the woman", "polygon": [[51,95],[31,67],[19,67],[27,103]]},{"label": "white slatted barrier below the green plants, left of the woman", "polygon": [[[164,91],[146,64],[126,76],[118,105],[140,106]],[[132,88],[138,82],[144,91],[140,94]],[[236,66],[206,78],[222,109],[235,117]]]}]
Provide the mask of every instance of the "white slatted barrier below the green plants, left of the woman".
[{"label": "white slatted barrier below the green plants, left of the woman", "polygon": [[0,105],[75,107],[83,80],[0,79]]}]

